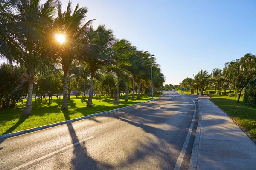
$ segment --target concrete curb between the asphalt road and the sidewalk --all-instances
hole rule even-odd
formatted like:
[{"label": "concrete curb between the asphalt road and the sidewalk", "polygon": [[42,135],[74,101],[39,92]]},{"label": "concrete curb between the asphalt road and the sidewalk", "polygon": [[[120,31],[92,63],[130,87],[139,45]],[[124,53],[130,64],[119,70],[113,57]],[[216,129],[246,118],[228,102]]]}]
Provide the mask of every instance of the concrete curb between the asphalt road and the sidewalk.
[{"label": "concrete curb between the asphalt road and the sidewalk", "polygon": [[[200,98],[198,98],[200,99]],[[198,150],[200,144],[200,135],[201,135],[201,125],[202,125],[202,113],[201,113],[201,105],[198,100],[198,126],[196,129],[195,140],[193,144],[193,149],[191,153],[189,170],[196,170],[198,165]]]}]

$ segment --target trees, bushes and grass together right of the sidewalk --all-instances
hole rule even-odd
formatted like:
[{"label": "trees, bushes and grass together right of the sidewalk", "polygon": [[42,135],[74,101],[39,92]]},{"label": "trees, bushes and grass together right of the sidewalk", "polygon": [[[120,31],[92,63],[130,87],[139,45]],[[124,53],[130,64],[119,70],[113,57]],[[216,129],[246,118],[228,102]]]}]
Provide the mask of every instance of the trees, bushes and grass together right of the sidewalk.
[{"label": "trees, bushes and grass together right of the sidewalk", "polygon": [[[250,53],[215,68],[211,74],[199,71],[184,79],[178,89],[195,89],[195,94],[207,94],[251,137],[256,139],[256,56]],[[181,92],[179,90],[179,92]]]}]

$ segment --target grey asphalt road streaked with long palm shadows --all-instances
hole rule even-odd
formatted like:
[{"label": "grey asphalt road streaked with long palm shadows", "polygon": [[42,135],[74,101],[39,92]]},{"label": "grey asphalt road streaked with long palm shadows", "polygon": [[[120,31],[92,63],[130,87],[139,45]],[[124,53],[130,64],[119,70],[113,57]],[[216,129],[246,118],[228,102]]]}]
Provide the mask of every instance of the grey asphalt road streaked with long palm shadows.
[{"label": "grey asphalt road streaked with long palm shadows", "polygon": [[196,96],[168,92],[143,105],[5,139],[0,169],[188,169],[196,103]]}]

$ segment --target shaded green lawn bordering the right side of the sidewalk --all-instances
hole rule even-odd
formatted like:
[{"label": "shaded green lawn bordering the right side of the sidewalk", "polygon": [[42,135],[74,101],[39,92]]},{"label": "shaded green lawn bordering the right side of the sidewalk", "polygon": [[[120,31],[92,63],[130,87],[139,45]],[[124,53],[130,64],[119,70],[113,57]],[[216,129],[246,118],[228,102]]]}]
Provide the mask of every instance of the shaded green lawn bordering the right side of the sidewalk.
[{"label": "shaded green lawn bordering the right side of the sidewalk", "polygon": [[[236,97],[209,94],[211,101],[256,139],[256,107],[236,103]],[[242,102],[242,99],[240,100]]]}]

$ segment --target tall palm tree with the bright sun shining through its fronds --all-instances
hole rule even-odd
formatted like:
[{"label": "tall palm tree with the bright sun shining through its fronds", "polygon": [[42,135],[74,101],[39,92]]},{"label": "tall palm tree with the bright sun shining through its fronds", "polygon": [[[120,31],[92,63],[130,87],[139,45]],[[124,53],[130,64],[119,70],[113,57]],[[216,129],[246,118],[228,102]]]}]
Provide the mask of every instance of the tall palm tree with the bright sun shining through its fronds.
[{"label": "tall palm tree with the bright sun shining through its fronds", "polygon": [[[85,32],[89,29],[93,20],[89,20],[83,24],[87,7],[79,8],[79,4],[72,12],[71,1],[68,2],[67,10],[62,12],[61,4],[58,5],[58,17],[55,19],[55,27],[58,31],[57,34],[65,35],[65,42],[59,45],[58,57],[60,59],[62,70],[64,72],[64,90],[63,90],[63,103],[62,110],[67,110],[67,77],[70,65],[75,57],[84,48]],[[83,41],[83,43],[81,43]]]}]

